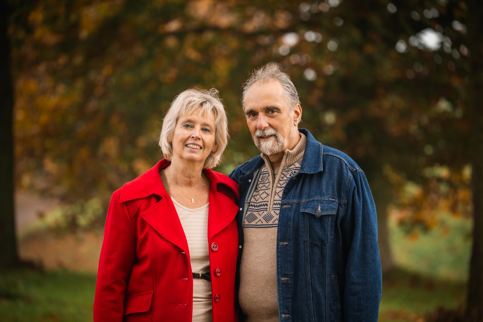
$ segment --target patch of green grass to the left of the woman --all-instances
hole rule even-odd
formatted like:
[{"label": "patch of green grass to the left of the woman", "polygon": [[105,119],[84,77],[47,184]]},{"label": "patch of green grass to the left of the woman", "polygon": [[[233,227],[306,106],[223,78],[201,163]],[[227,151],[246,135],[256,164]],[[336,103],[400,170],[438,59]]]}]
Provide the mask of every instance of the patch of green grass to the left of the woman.
[{"label": "patch of green grass to the left of the woman", "polygon": [[0,272],[0,320],[92,321],[96,276],[61,270]]}]

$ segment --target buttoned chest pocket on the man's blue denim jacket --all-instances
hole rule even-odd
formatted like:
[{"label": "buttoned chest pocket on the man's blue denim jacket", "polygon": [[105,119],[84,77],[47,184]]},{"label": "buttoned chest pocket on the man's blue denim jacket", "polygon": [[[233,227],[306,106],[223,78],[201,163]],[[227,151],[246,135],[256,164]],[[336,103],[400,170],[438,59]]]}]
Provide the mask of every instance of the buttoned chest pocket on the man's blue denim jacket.
[{"label": "buttoned chest pocket on the man's blue denim jacket", "polygon": [[316,199],[300,204],[300,236],[306,244],[321,247],[330,243],[331,217],[337,213],[336,200]]}]

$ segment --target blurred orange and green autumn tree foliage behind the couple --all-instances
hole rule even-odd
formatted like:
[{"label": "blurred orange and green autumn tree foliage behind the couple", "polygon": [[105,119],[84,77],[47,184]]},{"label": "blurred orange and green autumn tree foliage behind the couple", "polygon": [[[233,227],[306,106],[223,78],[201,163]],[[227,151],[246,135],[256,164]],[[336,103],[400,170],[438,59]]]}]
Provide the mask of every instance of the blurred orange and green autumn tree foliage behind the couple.
[{"label": "blurred orange and green autumn tree foliage behind the couple", "polygon": [[275,61],[299,89],[301,126],[364,169],[384,268],[392,200],[411,227],[471,211],[465,2],[11,1],[23,188],[108,200],[162,158],[159,122],[192,86],[225,100],[229,172],[259,153],[241,84]]}]

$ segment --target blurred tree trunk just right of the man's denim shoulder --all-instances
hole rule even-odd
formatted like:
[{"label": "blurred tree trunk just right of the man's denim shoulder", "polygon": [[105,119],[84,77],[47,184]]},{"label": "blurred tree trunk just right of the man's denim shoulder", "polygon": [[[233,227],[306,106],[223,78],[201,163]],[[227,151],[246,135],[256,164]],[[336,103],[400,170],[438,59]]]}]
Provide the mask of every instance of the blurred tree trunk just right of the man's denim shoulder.
[{"label": "blurred tree trunk just right of the man's denim shoulder", "polygon": [[384,272],[394,268],[387,226],[387,206],[392,200],[392,186],[391,182],[384,177],[382,170],[373,173],[371,177],[369,185],[376,204],[377,238],[379,253],[381,254],[381,266]]}]

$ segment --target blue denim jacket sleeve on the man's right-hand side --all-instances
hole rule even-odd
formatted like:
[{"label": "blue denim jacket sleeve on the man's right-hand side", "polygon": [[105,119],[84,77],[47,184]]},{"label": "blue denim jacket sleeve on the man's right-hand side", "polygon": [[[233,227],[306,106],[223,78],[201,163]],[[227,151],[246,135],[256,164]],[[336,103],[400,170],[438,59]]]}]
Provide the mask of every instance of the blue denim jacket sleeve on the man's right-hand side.
[{"label": "blue denim jacket sleeve on the man's right-hand side", "polygon": [[377,322],[382,295],[382,270],[377,244],[376,206],[364,172],[353,173],[343,223],[347,257],[343,321]]}]

